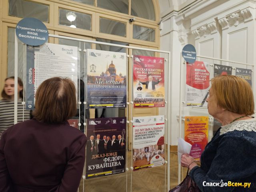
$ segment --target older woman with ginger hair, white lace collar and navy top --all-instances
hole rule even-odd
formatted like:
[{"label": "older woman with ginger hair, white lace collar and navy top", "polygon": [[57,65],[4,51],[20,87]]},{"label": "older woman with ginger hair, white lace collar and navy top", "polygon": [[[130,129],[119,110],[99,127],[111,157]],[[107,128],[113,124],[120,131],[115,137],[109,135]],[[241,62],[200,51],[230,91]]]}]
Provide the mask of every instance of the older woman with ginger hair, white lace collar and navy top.
[{"label": "older woman with ginger hair, white lace collar and navy top", "polygon": [[255,192],[256,118],[250,116],[254,114],[252,89],[246,80],[232,75],[211,81],[206,99],[208,112],[222,126],[206,145],[200,167],[189,154],[182,154],[181,165],[189,168],[189,176],[202,192]]}]

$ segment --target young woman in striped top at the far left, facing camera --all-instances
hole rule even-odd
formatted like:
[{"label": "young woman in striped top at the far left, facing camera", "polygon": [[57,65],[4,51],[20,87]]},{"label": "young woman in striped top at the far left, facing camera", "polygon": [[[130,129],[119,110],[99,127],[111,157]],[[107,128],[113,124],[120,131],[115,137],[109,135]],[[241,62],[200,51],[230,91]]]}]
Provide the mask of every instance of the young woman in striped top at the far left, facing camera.
[{"label": "young woman in striped top at the far left, facing camera", "polygon": [[[0,100],[0,138],[2,133],[14,124],[14,77],[8,77],[4,80],[4,88]],[[30,110],[24,110],[22,105],[23,83],[18,78],[18,116],[17,121],[22,122],[30,119]]]}]

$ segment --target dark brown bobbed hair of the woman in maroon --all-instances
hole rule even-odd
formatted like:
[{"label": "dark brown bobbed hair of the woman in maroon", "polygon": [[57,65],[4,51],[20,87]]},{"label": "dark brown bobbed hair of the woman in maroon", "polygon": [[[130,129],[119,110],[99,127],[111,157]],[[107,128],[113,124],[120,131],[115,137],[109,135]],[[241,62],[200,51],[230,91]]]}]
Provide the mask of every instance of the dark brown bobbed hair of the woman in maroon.
[{"label": "dark brown bobbed hair of the woman in maroon", "polygon": [[46,123],[61,123],[76,115],[76,88],[68,78],[53,77],[36,91],[33,116]]}]

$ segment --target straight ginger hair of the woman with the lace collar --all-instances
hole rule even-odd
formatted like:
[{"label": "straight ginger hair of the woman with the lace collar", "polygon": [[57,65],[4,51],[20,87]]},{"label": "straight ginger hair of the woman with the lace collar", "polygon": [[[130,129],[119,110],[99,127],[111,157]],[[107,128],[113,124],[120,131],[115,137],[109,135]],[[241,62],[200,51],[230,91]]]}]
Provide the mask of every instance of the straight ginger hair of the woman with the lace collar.
[{"label": "straight ginger hair of the woman with the lace collar", "polygon": [[211,81],[218,106],[237,114],[254,114],[252,88],[246,80],[233,75],[220,75]]}]

